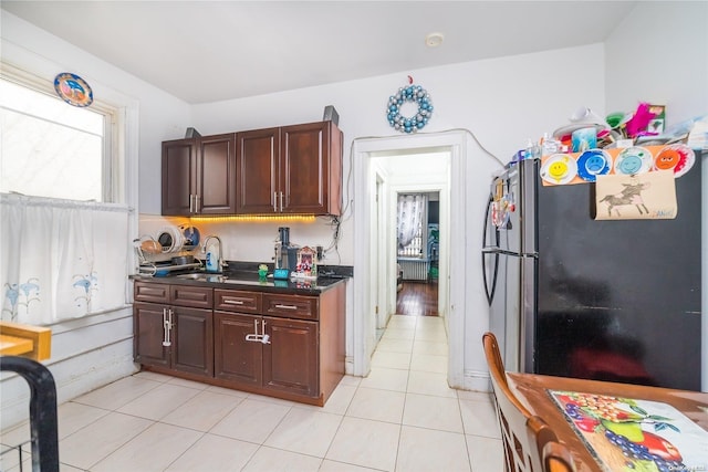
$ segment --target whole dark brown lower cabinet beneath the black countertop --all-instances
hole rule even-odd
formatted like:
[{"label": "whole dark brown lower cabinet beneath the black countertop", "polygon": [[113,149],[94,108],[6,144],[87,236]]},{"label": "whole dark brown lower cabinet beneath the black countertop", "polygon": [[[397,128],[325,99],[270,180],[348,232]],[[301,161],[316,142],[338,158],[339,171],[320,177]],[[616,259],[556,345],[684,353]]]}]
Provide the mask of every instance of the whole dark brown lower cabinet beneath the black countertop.
[{"label": "whole dark brown lower cabinet beneath the black countertop", "polygon": [[136,281],[135,361],[323,406],[344,376],[344,283],[295,295]]}]

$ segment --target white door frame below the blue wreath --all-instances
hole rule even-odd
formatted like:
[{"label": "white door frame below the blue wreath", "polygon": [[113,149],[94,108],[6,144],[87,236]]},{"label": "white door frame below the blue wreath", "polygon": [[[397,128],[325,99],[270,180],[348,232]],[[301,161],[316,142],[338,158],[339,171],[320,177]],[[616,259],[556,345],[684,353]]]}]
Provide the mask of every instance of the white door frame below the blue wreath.
[{"label": "white door frame below the blue wreath", "polygon": [[[366,376],[371,370],[371,356],[376,345],[376,329],[371,316],[371,274],[376,266],[371,261],[371,245],[377,235],[372,234],[372,213],[376,177],[372,172],[372,155],[385,151],[419,150],[426,148],[446,149],[450,153],[450,218],[447,242],[449,256],[448,303],[445,325],[448,333],[448,384],[461,388],[465,384],[465,286],[466,286],[466,218],[465,176],[467,156],[467,134],[465,130],[394,136],[385,138],[354,139],[352,155],[354,167],[354,304],[351,326],[353,332],[352,374]],[[442,244],[441,244],[442,245]]]}]

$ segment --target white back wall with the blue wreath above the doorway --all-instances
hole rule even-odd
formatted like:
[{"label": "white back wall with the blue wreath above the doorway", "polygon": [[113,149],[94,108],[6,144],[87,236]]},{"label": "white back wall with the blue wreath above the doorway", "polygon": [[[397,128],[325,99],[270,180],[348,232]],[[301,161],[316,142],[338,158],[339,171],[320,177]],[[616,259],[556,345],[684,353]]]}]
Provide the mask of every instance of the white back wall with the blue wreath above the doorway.
[{"label": "white back wall with the blue wreath above the doorway", "polygon": [[[596,64],[583,74],[572,71],[585,69],[587,57]],[[254,129],[322,119],[326,105],[334,105],[340,114],[340,127],[344,133],[344,191],[345,199],[352,199],[356,179],[354,175],[351,146],[354,139],[365,137],[402,136],[385,118],[388,96],[407,84],[410,74],[415,83],[428,91],[435,112],[425,133],[465,128],[475,134],[483,147],[500,160],[508,161],[528,138],[539,138],[544,132],[569,123],[568,117],[579,106],[585,105],[598,114],[604,114],[604,48],[593,44],[583,48],[548,51],[511,57],[454,64],[418,71],[402,71],[367,80],[336,83],[320,87],[303,88],[280,94],[243,98],[237,101],[205,104],[194,107],[194,126],[204,134],[229,130]],[[482,290],[481,268],[477,248],[481,248],[481,224],[486,195],[491,175],[500,164],[479,147],[467,158],[467,196],[462,214],[454,214],[467,228],[469,273],[466,277],[466,305],[457,310],[470,311],[464,349],[465,370],[469,376],[486,373],[481,349],[481,334],[487,329],[487,302]],[[473,198],[472,198],[473,196]],[[145,196],[140,196],[144,198]],[[157,198],[157,195],[155,195]],[[352,265],[354,254],[354,225],[351,214],[344,217],[340,243],[341,263]],[[229,223],[238,245],[254,258],[262,259],[272,253],[271,241],[278,224],[238,225]],[[323,239],[330,234],[329,228],[320,230]],[[291,240],[300,242],[299,229],[291,229]],[[317,239],[316,235],[309,237]],[[229,238],[227,238],[229,239]],[[231,244],[225,240],[225,244]],[[236,244],[236,242],[233,242]],[[452,256],[459,248],[450,248]],[[473,252],[473,254],[472,254]],[[329,261],[325,261],[330,263]],[[354,282],[365,281],[366,274],[358,274],[354,268]],[[354,318],[367,316],[364,313],[347,312],[347,346],[352,346]],[[354,353],[347,352],[347,357]],[[351,357],[350,357],[351,358]]]}]

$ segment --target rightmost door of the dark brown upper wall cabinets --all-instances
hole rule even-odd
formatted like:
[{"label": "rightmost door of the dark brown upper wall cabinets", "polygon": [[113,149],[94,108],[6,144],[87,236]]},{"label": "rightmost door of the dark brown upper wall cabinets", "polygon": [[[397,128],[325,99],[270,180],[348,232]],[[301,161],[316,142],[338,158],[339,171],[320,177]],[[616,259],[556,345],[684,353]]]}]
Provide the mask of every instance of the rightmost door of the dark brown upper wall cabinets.
[{"label": "rightmost door of the dark brown upper wall cabinets", "polygon": [[279,186],[284,192],[284,213],[339,214],[341,182],[333,181],[333,174],[341,176],[341,153],[332,153],[333,130],[339,143],[340,132],[331,122],[281,128]]}]

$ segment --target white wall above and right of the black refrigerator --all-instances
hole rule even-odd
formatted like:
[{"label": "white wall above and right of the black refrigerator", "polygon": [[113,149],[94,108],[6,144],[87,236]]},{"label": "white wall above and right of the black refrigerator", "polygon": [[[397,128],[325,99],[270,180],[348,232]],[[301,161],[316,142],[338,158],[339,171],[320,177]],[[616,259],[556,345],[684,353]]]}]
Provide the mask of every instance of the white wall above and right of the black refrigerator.
[{"label": "white wall above and right of the black refrigerator", "polygon": [[[708,115],[708,2],[641,2],[606,42],[605,104],[666,105],[671,125]],[[702,280],[708,281],[708,153],[702,156]],[[702,390],[708,391],[708,290],[702,291]]]}]

